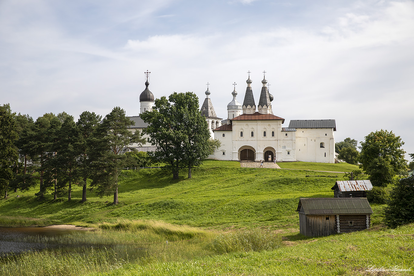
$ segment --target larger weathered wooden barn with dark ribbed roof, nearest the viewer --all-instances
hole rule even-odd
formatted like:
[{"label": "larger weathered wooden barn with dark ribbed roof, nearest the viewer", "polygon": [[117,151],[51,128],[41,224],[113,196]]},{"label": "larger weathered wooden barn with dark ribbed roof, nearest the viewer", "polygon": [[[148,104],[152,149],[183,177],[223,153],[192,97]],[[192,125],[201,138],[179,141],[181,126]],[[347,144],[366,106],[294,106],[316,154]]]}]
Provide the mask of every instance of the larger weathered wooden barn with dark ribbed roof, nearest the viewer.
[{"label": "larger weathered wooden barn with dark ribbed roof, nearest the viewer", "polygon": [[299,228],[309,237],[368,229],[372,209],[366,198],[301,198]]}]

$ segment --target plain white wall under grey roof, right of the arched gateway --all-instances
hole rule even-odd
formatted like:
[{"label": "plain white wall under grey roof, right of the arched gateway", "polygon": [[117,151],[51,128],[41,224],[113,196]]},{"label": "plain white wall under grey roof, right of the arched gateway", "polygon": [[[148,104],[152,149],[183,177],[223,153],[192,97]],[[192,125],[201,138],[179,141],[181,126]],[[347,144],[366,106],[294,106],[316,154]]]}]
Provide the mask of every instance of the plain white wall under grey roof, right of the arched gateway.
[{"label": "plain white wall under grey roof, right of the arched gateway", "polygon": [[[323,143],[324,148],[320,147]],[[297,128],[296,159],[304,162],[335,163],[332,128]]]}]

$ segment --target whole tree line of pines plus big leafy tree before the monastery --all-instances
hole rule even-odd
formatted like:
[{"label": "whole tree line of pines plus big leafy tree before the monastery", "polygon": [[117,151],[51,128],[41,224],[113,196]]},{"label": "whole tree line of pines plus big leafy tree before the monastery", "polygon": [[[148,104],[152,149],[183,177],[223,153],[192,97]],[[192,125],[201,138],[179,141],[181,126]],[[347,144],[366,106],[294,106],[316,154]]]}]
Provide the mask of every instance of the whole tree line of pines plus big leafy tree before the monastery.
[{"label": "whole tree line of pines plus big leafy tree before the monastery", "polygon": [[[120,107],[103,119],[84,111],[75,122],[65,112],[46,113],[34,121],[13,113],[9,104],[0,106],[0,192],[7,198],[10,190],[27,191],[39,185],[35,194],[39,198],[52,190],[54,199],[67,194],[71,200],[72,185],[80,185],[82,202],[89,187],[100,196],[113,193],[117,204],[118,180],[125,167],[163,163],[173,179],[178,179],[183,167],[191,178],[192,168],[220,146],[210,138],[198,106],[192,92],[156,99],[152,111],[140,115],[149,123],[142,132],[129,130],[134,122]],[[146,142],[156,150],[144,153],[132,147]]]}]

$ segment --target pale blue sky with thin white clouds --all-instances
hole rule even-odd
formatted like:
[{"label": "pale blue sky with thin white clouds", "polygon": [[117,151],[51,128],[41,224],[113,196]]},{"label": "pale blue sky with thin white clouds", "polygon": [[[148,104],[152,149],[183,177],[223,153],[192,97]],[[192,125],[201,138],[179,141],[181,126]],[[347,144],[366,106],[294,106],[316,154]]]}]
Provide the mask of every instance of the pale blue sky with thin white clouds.
[{"label": "pale blue sky with thin white clouds", "polygon": [[[62,111],[139,115],[207,82],[220,118],[263,71],[274,115],[335,119],[335,141],[388,130],[414,153],[414,1],[0,0],[0,104],[34,120]],[[360,144],[359,144],[360,145]],[[411,158],[407,155],[407,160]]]}]

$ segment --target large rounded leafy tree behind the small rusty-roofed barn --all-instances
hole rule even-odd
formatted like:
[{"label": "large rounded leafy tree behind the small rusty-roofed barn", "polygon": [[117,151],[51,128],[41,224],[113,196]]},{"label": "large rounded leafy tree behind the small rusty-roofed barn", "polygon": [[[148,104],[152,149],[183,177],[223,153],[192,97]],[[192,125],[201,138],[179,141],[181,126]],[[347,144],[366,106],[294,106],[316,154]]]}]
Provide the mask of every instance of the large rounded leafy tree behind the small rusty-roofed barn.
[{"label": "large rounded leafy tree behind the small rusty-roofed barn", "polygon": [[407,161],[402,145],[400,136],[387,130],[371,132],[361,142],[359,166],[370,175],[372,185],[385,187],[397,173],[405,170]]}]

